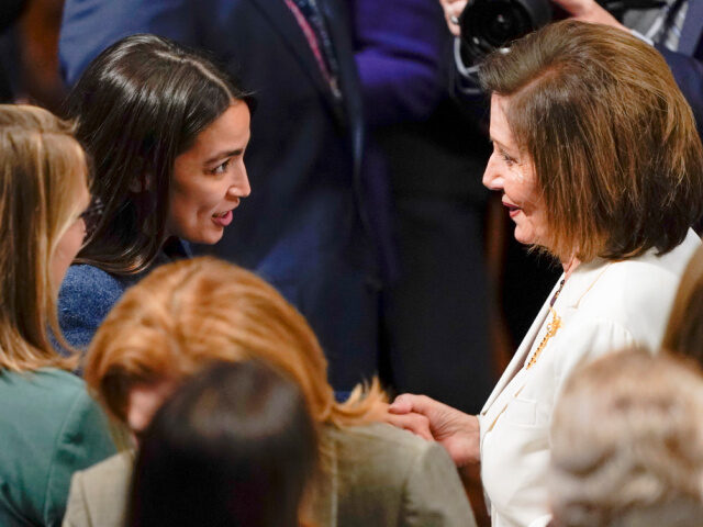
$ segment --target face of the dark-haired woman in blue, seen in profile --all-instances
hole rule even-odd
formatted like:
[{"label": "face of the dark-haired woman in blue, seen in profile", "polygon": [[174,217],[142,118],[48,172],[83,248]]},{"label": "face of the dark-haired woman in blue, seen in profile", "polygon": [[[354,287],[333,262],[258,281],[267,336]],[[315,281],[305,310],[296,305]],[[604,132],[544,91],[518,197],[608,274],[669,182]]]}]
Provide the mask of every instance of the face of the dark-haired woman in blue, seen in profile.
[{"label": "face of the dark-haired woman in blue, seen in profile", "polygon": [[244,150],[249,142],[249,109],[234,102],[205,127],[174,162],[167,234],[214,244],[232,223],[232,211],[249,195]]}]

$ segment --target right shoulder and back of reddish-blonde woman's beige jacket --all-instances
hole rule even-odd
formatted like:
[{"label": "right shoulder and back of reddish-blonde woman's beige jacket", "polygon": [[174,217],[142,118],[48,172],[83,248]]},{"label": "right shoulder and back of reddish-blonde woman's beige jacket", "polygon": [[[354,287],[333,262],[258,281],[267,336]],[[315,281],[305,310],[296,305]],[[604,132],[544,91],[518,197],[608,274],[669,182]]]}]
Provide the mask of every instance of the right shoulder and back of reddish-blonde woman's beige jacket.
[{"label": "right shoulder and back of reddish-blonde woman's beige jacket", "polygon": [[341,516],[362,525],[471,526],[456,467],[436,442],[376,423],[328,427]]}]

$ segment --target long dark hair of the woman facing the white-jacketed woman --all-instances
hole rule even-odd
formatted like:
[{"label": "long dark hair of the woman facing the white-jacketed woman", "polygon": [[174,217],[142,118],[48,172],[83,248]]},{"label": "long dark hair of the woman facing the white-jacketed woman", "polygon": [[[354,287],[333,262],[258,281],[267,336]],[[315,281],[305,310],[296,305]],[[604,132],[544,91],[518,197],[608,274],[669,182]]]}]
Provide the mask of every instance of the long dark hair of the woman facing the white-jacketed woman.
[{"label": "long dark hair of the woman facing the white-jacketed woman", "polygon": [[90,63],[66,112],[94,160],[104,213],[78,261],[115,274],[150,265],[166,238],[174,160],[235,100],[252,108],[211,60],[159,36],[127,36]]}]

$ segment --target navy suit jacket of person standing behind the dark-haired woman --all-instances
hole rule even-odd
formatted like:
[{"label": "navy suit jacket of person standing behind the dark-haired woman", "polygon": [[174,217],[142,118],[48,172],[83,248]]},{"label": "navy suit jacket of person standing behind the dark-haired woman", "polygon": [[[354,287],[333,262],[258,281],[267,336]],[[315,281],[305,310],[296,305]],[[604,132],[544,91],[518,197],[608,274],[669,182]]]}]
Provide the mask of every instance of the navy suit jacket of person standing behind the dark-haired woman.
[{"label": "navy suit jacket of person standing behind the dark-haired woman", "polygon": [[[383,181],[361,170],[358,79],[337,0],[319,0],[341,69],[341,103],[283,0],[68,0],[59,42],[74,82],[101,49],[149,32],[204,48],[253,90],[253,192],[214,247],[255,269],[308,317],[349,389],[377,367]],[[372,214],[371,214],[372,212]],[[204,248],[197,249],[204,250]]]}]

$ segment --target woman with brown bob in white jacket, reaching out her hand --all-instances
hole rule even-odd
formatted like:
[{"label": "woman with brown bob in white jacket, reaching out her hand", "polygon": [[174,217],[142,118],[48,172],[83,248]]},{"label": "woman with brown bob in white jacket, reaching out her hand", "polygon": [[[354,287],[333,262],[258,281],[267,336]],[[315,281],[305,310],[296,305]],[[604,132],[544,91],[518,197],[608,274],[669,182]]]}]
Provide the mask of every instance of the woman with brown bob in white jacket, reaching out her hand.
[{"label": "woman with brown bob in white jacket, reaching out her hand", "polygon": [[[492,54],[493,154],[515,238],[563,268],[479,415],[401,395],[389,421],[480,463],[494,526],[549,522],[549,423],[582,362],[658,349],[703,211],[703,148],[661,55],[604,25],[562,21]],[[469,365],[467,365],[469,367]],[[598,426],[598,424],[593,424]]]}]

